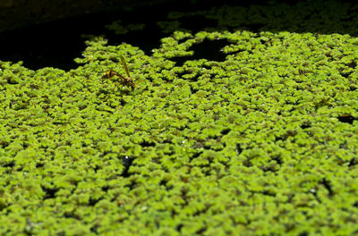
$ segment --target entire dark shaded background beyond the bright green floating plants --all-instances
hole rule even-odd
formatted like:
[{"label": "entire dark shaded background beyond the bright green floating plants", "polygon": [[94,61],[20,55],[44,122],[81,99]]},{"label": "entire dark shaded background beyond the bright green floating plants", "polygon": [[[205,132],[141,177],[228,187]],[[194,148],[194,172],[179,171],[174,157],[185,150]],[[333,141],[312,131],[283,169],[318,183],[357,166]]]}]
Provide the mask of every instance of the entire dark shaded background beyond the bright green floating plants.
[{"label": "entire dark shaded background beyond the bright green floating plants", "polygon": [[[140,46],[147,55],[150,55],[152,48],[160,46],[160,38],[168,36],[158,29],[157,21],[168,21],[167,13],[169,12],[209,10],[211,7],[223,4],[240,5],[250,9],[251,5],[254,4],[261,6],[272,5],[273,3],[294,5],[298,2],[300,1],[1,0],[0,60],[13,63],[23,61],[24,66],[33,70],[50,66],[69,71],[78,67],[73,59],[81,57],[86,40],[82,36],[86,34],[106,35],[108,44],[111,45],[127,42],[133,46]],[[322,2],[327,1],[317,0],[318,4]],[[357,37],[354,30],[343,25],[344,21],[353,21],[353,23],[355,21],[354,29],[357,28],[357,4],[354,1],[331,2],[338,3],[337,5],[350,3],[352,8],[348,14],[342,14],[340,9],[335,8],[332,17],[324,17],[327,9],[312,9],[310,13],[306,13],[307,17],[299,20],[304,21],[299,25],[294,18],[290,18],[286,13],[270,15],[263,10],[261,14],[267,17],[267,21],[249,22],[246,25],[240,25],[238,28],[229,30],[294,30],[295,32],[350,34]],[[262,9],[265,9],[265,7]],[[307,12],[310,9],[294,9],[294,11],[297,15],[300,15],[301,11]],[[320,20],[321,13],[324,13],[325,21],[317,20]],[[117,20],[123,21],[124,24],[146,23],[148,27],[134,34],[115,35],[114,32],[107,30],[104,26]],[[203,30],[205,27],[211,29],[217,27],[216,21],[209,21],[204,18],[187,18],[181,19],[181,21],[183,21],[185,29],[193,32]],[[277,21],[279,21],[278,24]],[[342,27],[339,27],[340,25]],[[222,46],[225,46],[225,44]]]}]

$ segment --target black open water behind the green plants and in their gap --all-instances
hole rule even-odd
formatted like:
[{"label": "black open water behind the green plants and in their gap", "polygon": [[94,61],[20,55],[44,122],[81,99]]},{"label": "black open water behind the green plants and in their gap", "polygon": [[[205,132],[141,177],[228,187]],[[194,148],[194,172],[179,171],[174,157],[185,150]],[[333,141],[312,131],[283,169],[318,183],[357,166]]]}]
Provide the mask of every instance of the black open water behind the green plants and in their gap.
[{"label": "black open water behind the green plants and in their gap", "polygon": [[[271,1],[272,2],[272,1]],[[285,1],[278,1],[285,2]],[[312,2],[312,1],[311,1]],[[314,2],[314,1],[313,1]],[[342,1],[338,2],[341,5]],[[147,55],[151,55],[151,49],[160,46],[160,38],[169,36],[170,32],[163,32],[157,24],[157,21],[173,21],[167,18],[169,12],[192,12],[198,10],[208,10],[211,7],[228,4],[230,6],[240,5],[249,11],[253,4],[261,6],[259,11],[266,19],[263,21],[256,21],[255,18],[248,19],[243,23],[238,23],[237,27],[229,28],[228,30],[288,30],[295,32],[319,32],[319,33],[350,33],[345,22],[355,19],[353,16],[357,13],[358,7],[351,7],[348,12],[341,11],[344,16],[342,19],[332,18],[328,21],[317,21],[320,19],[320,14],[325,14],[326,9],[310,9],[303,5],[303,9],[296,9],[294,12],[307,13],[301,21],[293,21],[285,12],[282,15],[265,13],[265,5],[267,1],[255,1],[252,4],[247,4],[247,1],[173,1],[171,4],[154,5],[141,8],[135,8],[131,12],[113,11],[106,13],[88,14],[79,17],[73,17],[62,21],[47,22],[40,25],[28,27],[26,29],[12,30],[0,34],[0,60],[11,61],[16,63],[23,61],[23,65],[36,70],[43,67],[55,67],[64,69],[65,71],[78,67],[77,63],[73,62],[76,57],[81,57],[81,52],[85,49],[84,41],[86,38],[81,37],[85,34],[91,35],[105,35],[108,39],[109,45],[118,45],[126,42],[133,46],[139,46]],[[339,5],[339,4],[338,4]],[[335,6],[337,8],[337,6]],[[344,7],[342,7],[344,9]],[[355,10],[354,10],[355,9]],[[301,11],[302,10],[302,11]],[[336,9],[340,13],[340,9]],[[353,18],[352,18],[352,17]],[[285,18],[287,17],[287,19]],[[329,18],[328,18],[329,19]],[[107,30],[105,25],[112,21],[121,20],[123,25],[130,23],[145,23],[146,27],[143,30],[132,31],[125,35],[115,35],[111,30]],[[181,27],[176,30],[192,30],[193,33],[206,28],[223,30],[218,27],[217,21],[214,19],[207,19],[204,16],[192,16],[178,19],[181,22]],[[337,22],[338,21],[338,22]],[[280,22],[277,24],[277,22]],[[332,24],[342,25],[341,29],[332,29]],[[356,29],[356,28],[353,28]],[[206,58],[208,60],[223,61],[224,54],[219,52],[219,49],[226,46],[225,40],[209,41],[205,40],[201,44],[194,45],[190,50],[194,50],[192,57],[171,58],[171,60],[178,64],[186,60]],[[210,48],[210,50],[207,50]]]}]

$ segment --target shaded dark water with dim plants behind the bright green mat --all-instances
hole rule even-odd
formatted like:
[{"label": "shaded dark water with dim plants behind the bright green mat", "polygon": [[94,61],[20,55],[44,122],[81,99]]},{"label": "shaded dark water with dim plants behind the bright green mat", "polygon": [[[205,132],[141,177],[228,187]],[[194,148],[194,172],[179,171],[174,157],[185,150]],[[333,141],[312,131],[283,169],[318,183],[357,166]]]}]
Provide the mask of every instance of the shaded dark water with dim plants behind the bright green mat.
[{"label": "shaded dark water with dim plants behind the bright green mat", "polygon": [[[138,8],[132,12],[97,13],[4,32],[0,34],[0,60],[13,63],[23,61],[24,66],[33,70],[51,66],[68,71],[78,67],[73,59],[81,57],[81,52],[85,49],[82,34],[106,35],[110,45],[126,42],[139,46],[147,55],[151,55],[151,49],[160,46],[160,38],[170,35],[170,30],[163,32],[157,21],[179,21],[177,28],[171,31],[191,30],[193,33],[200,30],[273,33],[285,30],[358,36],[358,4],[354,2],[309,0],[297,1],[297,4],[285,4],[285,1],[277,1],[275,4],[272,4],[273,1],[243,4],[241,1],[225,1],[226,6],[217,13],[198,11],[223,6],[222,1],[175,2],[176,4],[167,4],[164,7]],[[169,12],[181,14],[172,14],[171,18],[168,18]],[[146,27],[129,34],[115,35],[104,26],[117,20],[123,21],[123,24],[146,23]],[[212,45],[205,46],[207,43]],[[214,44],[216,43],[204,41],[204,45],[194,45],[194,49],[197,47],[195,50],[190,48],[195,51],[192,58],[177,60],[206,58],[222,61],[220,57],[225,58],[225,55],[218,51],[220,46],[226,44]]]}]

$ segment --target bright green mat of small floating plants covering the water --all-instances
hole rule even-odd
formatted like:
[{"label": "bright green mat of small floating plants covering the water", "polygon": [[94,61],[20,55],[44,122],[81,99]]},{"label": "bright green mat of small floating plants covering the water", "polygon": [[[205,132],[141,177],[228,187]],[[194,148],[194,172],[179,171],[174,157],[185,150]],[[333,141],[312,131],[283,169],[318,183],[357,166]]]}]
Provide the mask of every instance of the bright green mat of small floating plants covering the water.
[{"label": "bright green mat of small floating plants covering the water", "polygon": [[[224,62],[192,55],[226,39]],[[0,63],[1,235],[358,234],[358,38],[93,38],[75,70]],[[113,70],[129,89],[103,78]]]}]

